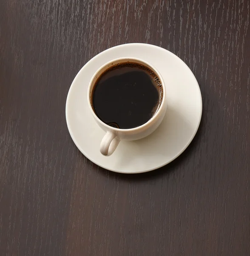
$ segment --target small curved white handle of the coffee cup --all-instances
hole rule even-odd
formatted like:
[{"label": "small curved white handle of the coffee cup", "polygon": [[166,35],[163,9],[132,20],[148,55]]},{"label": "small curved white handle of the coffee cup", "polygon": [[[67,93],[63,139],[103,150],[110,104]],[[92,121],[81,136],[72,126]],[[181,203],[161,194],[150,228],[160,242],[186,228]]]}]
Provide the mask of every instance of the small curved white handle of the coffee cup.
[{"label": "small curved white handle of the coffee cup", "polygon": [[100,152],[104,156],[110,156],[114,153],[116,147],[118,146],[120,140],[116,137],[116,134],[114,134],[111,131],[107,131],[107,133],[104,135],[101,145],[100,145]]}]

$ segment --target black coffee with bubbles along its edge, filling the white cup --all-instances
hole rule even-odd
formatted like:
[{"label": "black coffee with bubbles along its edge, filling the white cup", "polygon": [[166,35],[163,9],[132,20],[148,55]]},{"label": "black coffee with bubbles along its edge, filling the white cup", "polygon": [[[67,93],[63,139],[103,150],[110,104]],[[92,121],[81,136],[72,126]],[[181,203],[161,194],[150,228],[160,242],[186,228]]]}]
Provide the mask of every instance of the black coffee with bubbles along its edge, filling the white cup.
[{"label": "black coffee with bubbles along its edge, filling the white cup", "polygon": [[143,125],[162,102],[162,84],[152,70],[126,62],[106,70],[92,92],[92,107],[105,124],[129,129]]}]

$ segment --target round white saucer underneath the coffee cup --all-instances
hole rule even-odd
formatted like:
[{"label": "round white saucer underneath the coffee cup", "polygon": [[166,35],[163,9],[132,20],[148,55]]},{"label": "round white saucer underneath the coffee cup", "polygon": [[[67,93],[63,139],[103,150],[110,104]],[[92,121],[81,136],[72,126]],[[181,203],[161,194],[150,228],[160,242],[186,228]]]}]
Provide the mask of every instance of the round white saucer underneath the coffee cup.
[{"label": "round white saucer underneath the coffee cup", "polygon": [[[105,132],[88,109],[87,89],[95,71],[114,58],[136,57],[161,73],[167,92],[167,112],[150,136],[121,141],[114,154],[104,157],[99,146]],[[170,163],[193,140],[202,116],[202,96],[192,71],[176,55],[149,44],[123,44],[99,53],[79,71],[68,92],[66,121],[77,148],[95,164],[122,173],[148,172]]]}]

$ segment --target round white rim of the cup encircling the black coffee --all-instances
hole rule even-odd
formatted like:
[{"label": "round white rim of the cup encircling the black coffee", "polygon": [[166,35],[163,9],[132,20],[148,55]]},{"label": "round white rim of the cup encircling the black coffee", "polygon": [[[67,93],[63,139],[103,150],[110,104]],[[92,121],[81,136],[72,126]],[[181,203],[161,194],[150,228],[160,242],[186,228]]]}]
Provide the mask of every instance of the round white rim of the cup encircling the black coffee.
[{"label": "round white rim of the cup encircling the black coffee", "polygon": [[[140,126],[137,126],[137,127],[134,127],[134,128],[128,128],[128,129],[121,129],[121,128],[115,128],[115,127],[112,127],[110,125],[107,125],[105,124],[105,122],[102,122],[101,119],[99,119],[99,117],[96,115],[96,113],[94,112],[93,108],[92,108],[92,105],[91,105],[91,102],[90,102],[90,90],[91,90],[91,85],[93,83],[93,80],[94,78],[97,76],[97,74],[105,67],[107,67],[108,65],[112,64],[113,62],[115,61],[122,61],[122,60],[131,60],[131,61],[139,61],[139,62],[142,62],[142,63],[145,63],[146,65],[148,65],[155,73],[157,76],[159,76],[159,79],[162,83],[162,88],[163,88],[163,96],[162,96],[162,103],[158,109],[158,111],[151,117],[151,119],[149,119],[147,122],[145,122],[143,125],[140,125]],[[145,128],[146,126],[150,125],[156,118],[157,116],[159,116],[159,113],[162,111],[162,109],[164,108],[163,105],[164,105],[164,102],[165,102],[165,99],[166,99],[166,88],[165,88],[165,82],[162,78],[162,75],[159,73],[159,71],[156,69],[156,67],[154,67],[152,64],[148,63],[147,61],[144,61],[142,60],[141,58],[135,58],[135,57],[121,57],[121,58],[115,58],[115,59],[112,59],[111,61],[108,61],[106,62],[105,64],[103,64],[101,67],[98,68],[98,70],[94,73],[94,75],[92,76],[89,84],[88,84],[88,93],[87,93],[87,97],[88,97],[88,106],[91,110],[91,113],[92,115],[94,116],[94,118],[97,120],[97,122],[100,122],[102,125],[104,125],[107,129],[109,130],[112,130],[112,131],[137,131],[139,129],[142,129],[142,128]]]}]

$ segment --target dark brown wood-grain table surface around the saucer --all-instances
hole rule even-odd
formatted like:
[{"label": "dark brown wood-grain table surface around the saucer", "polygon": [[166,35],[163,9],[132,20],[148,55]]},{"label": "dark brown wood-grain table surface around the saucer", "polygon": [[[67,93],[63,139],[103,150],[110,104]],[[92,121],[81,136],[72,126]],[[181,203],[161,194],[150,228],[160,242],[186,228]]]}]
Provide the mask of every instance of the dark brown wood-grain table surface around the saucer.
[{"label": "dark brown wood-grain table surface around the saucer", "polygon": [[[172,163],[122,175],[74,145],[65,100],[118,44],[170,50],[203,98]],[[0,255],[250,255],[250,1],[0,1]]]}]

